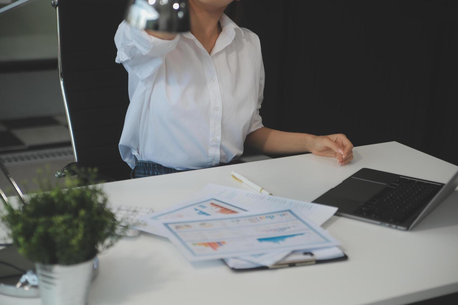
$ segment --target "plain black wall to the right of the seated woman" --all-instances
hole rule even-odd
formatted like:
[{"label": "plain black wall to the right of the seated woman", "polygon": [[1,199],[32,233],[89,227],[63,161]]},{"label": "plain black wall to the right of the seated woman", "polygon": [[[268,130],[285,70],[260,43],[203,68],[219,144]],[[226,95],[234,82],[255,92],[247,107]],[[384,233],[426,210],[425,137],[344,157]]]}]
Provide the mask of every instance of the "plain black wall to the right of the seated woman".
[{"label": "plain black wall to the right of the seated woman", "polygon": [[243,1],[266,127],[398,141],[458,165],[458,1]]}]

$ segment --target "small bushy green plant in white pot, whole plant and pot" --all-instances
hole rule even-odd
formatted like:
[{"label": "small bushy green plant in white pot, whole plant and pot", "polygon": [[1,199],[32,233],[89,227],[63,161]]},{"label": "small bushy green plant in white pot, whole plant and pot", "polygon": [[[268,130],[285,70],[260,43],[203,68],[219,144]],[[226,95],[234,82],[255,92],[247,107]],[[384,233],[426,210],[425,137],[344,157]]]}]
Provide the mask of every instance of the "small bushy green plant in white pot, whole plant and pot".
[{"label": "small bushy green plant in white pot, whole plant and pot", "polygon": [[120,236],[101,187],[66,184],[18,207],[4,202],[1,216],[19,253],[35,263],[44,305],[87,304],[93,260]]}]

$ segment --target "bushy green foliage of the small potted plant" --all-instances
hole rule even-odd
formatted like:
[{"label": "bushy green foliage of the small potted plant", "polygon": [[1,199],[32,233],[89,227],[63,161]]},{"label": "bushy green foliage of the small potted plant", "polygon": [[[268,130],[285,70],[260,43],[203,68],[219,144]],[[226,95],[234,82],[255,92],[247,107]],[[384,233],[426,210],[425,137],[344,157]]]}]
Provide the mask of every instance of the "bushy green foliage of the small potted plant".
[{"label": "bushy green foliage of the small potted plant", "polygon": [[77,187],[78,183],[67,180],[67,189],[33,194],[18,209],[4,203],[1,219],[22,256],[32,262],[71,265],[93,258],[119,239],[119,222],[101,187]]}]

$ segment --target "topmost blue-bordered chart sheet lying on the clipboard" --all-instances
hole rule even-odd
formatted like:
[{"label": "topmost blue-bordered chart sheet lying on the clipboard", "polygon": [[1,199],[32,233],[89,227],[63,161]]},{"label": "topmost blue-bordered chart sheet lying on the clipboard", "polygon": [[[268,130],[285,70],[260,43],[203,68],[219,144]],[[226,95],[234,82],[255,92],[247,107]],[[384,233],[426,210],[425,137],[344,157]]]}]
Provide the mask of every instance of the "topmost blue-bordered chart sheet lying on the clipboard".
[{"label": "topmost blue-bordered chart sheet lying on the clipboard", "polygon": [[325,230],[294,209],[160,221],[170,241],[190,261],[338,245]]}]

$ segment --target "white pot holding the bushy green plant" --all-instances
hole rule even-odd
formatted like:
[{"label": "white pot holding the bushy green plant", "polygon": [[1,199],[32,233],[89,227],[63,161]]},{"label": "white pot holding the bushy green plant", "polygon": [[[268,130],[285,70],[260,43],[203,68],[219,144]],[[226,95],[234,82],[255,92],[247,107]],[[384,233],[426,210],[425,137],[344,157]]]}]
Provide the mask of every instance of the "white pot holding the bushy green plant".
[{"label": "white pot holding the bushy green plant", "polygon": [[86,305],[94,259],[75,265],[36,263],[42,305]]}]

